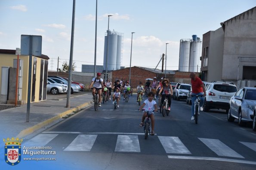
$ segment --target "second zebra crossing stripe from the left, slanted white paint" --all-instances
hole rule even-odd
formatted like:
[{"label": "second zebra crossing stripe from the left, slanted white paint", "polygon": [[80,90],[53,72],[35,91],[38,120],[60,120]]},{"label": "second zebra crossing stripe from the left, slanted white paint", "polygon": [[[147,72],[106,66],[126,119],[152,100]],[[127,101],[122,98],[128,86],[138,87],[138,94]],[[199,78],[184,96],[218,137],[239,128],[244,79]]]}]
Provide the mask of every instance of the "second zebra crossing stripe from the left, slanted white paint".
[{"label": "second zebra crossing stripe from the left, slanted white paint", "polygon": [[79,134],[64,151],[90,151],[97,134]]}]

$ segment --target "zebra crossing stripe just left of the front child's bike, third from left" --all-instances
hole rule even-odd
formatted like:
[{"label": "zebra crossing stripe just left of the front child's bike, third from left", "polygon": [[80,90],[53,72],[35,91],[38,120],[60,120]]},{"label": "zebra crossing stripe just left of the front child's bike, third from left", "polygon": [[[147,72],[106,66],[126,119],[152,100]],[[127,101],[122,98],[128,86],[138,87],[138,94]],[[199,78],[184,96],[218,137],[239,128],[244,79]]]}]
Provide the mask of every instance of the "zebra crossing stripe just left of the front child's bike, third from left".
[{"label": "zebra crossing stripe just left of the front child's bike, third from left", "polygon": [[138,136],[118,135],[115,152],[140,152]]}]

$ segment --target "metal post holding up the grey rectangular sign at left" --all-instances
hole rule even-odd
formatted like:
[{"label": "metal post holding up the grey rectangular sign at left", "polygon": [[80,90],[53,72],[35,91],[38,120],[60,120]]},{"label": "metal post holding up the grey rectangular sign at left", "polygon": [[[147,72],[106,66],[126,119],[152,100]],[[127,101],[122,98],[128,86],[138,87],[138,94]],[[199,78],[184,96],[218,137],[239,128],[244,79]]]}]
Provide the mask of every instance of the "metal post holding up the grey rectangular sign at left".
[{"label": "metal post holding up the grey rectangular sign at left", "polygon": [[27,101],[27,114],[26,122],[29,122],[30,113],[30,100],[31,100],[31,72],[32,72],[32,37],[29,36],[29,62],[28,62],[28,101]]}]

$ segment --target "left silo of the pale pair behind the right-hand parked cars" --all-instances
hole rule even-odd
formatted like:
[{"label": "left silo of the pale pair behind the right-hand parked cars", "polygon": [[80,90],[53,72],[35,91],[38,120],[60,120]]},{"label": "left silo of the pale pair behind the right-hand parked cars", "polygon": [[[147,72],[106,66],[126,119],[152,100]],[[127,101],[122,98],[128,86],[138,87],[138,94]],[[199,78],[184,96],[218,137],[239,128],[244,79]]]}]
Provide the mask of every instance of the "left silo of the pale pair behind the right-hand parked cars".
[{"label": "left silo of the pale pair behind the right-hand parked cars", "polygon": [[180,40],[179,72],[188,72],[190,54],[190,39]]}]

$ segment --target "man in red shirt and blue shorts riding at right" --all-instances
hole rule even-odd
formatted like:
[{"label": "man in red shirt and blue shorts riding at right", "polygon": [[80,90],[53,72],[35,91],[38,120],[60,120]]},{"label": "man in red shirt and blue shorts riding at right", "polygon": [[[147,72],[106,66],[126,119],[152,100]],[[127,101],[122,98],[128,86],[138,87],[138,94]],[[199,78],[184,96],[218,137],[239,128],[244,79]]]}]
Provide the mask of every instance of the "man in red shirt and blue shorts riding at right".
[{"label": "man in red shirt and blue shorts riding at right", "polygon": [[[196,76],[194,72],[190,73],[189,77],[191,78],[191,87],[192,87],[192,107],[191,107],[191,120],[194,120],[194,101],[196,100],[195,95],[206,95],[206,91],[204,88],[204,84],[201,81],[200,78]],[[204,96],[200,97],[200,111],[203,111],[203,105],[204,105]]]}]

